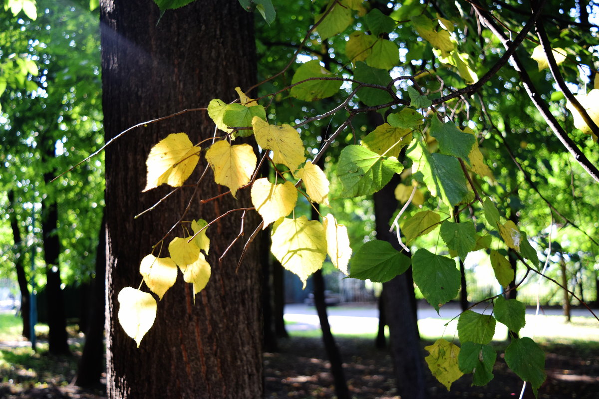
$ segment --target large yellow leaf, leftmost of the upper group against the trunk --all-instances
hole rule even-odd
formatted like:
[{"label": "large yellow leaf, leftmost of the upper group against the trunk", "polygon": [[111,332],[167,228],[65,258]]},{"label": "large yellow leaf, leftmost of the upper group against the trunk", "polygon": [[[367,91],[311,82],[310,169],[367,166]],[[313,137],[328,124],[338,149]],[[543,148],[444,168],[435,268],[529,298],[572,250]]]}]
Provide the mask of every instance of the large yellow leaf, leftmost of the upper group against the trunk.
[{"label": "large yellow leaf, leftmost of the upper group against the trunk", "polygon": [[185,133],[172,133],[159,141],[146,160],[147,184],[143,191],[163,183],[172,187],[183,185],[198,165],[199,150]]}]

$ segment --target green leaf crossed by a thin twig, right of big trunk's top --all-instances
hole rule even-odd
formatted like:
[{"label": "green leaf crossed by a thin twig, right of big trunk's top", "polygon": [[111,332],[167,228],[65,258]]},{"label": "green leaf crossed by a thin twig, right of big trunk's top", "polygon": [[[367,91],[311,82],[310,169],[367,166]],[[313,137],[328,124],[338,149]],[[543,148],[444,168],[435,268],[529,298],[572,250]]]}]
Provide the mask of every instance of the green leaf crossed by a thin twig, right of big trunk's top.
[{"label": "green leaf crossed by a thin twig, right of big trunk's top", "polygon": [[[303,63],[295,71],[291,84],[301,82],[309,78],[332,78],[335,75],[320,65],[319,60],[311,60]],[[299,100],[316,101],[337,94],[341,81],[338,80],[309,80],[291,88],[290,95]]]}]

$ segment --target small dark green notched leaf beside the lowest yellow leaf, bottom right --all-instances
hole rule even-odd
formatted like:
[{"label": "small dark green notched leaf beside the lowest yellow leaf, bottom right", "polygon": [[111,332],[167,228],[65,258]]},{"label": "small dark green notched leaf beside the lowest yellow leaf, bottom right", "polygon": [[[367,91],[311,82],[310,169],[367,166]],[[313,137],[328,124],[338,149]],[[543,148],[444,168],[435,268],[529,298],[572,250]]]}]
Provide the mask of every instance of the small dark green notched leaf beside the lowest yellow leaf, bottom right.
[{"label": "small dark green notched leaf beside the lowest yellow leaf, bottom right", "polygon": [[458,355],[459,370],[473,373],[472,385],[484,386],[493,379],[495,359],[497,352],[491,345],[464,342]]}]

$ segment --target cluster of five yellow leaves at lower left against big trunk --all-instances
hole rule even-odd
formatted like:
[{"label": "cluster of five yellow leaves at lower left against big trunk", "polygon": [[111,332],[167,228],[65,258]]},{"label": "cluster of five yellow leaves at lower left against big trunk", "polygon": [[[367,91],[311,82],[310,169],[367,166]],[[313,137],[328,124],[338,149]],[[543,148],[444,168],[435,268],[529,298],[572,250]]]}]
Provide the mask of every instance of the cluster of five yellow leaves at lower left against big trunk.
[{"label": "cluster of five yellow leaves at lower left against big trunk", "polygon": [[[193,284],[193,294],[203,290],[210,279],[210,264],[201,251],[208,253],[210,239],[206,236],[205,220],[192,222],[195,237],[175,237],[168,245],[170,257],[157,258],[150,254],[140,263],[140,274],[150,291],[159,299],[177,281],[177,266],[183,273],[183,280]],[[203,230],[202,230],[203,229]],[[119,292],[119,322],[125,333],[133,338],[139,348],[141,339],[154,324],[158,306],[150,293],[125,287]]]}]

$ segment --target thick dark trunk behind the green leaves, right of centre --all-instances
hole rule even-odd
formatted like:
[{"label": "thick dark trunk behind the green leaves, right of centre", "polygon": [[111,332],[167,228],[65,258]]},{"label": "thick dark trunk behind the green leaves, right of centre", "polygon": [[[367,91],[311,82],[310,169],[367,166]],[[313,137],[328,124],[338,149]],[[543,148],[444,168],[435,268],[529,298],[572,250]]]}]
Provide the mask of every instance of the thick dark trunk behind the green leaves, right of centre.
[{"label": "thick dark trunk behind the green leaves, right of centre", "polygon": [[[389,232],[389,221],[397,209],[394,190],[399,181],[399,176],[396,175],[388,185],[374,194],[374,215],[377,239],[387,240],[394,248],[401,250],[397,237]],[[425,398],[423,355],[420,350],[412,274],[406,272],[383,283],[383,293],[398,394],[403,398]]]}]

